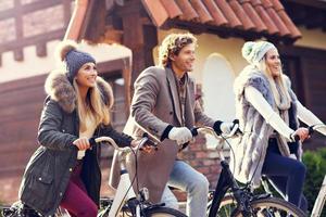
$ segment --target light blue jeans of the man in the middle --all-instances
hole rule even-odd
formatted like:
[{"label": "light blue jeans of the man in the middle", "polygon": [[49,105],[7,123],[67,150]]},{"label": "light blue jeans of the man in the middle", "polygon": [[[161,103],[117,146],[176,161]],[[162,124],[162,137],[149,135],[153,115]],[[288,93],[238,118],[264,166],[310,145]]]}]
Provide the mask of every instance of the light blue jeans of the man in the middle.
[{"label": "light blue jeans of the man in the middle", "polygon": [[187,192],[187,216],[205,216],[209,193],[209,181],[205,176],[185,162],[175,161],[170,180],[162,195],[162,202],[168,207],[178,208],[177,200],[168,186]]}]

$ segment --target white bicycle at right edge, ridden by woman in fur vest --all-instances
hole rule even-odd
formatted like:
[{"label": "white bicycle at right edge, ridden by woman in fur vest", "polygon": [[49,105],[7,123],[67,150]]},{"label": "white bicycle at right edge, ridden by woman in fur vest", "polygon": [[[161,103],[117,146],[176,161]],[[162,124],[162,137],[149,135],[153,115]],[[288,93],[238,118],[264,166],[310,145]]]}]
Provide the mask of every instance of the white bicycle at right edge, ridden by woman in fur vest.
[{"label": "white bicycle at right edge, ridden by woman in fur vest", "polygon": [[[315,132],[315,130],[317,130],[318,128],[326,128],[326,125],[317,124],[317,125],[309,126],[308,127],[309,136],[312,136]],[[263,183],[264,191],[272,194],[272,191],[269,190],[268,180],[266,178],[263,178],[262,183]],[[326,201],[326,175],[324,176],[324,180],[323,180],[321,190],[315,200],[315,203],[314,203],[314,206],[313,206],[313,209],[311,213],[311,217],[319,217],[321,216],[321,214],[323,212],[323,207],[325,205],[325,201]]]}]

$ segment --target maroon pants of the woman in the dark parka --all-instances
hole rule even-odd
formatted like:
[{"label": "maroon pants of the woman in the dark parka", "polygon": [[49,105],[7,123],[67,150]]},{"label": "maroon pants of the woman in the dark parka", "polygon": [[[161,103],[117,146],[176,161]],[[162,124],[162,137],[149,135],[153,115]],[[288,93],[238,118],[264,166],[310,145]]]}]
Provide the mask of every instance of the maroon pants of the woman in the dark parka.
[{"label": "maroon pants of the woman in the dark parka", "polygon": [[72,217],[96,217],[98,206],[88,196],[85,184],[80,179],[82,163],[77,164],[60,203]]}]

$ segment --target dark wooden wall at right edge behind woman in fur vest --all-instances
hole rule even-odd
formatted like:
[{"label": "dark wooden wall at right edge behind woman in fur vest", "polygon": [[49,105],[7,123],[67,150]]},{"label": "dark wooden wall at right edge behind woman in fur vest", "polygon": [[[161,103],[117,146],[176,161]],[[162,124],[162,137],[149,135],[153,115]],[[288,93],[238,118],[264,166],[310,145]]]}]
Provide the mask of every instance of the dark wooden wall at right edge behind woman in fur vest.
[{"label": "dark wooden wall at right edge behind woman in fur vest", "polygon": [[[326,51],[303,47],[284,47],[279,51],[300,102],[326,123]],[[325,137],[315,133],[303,146],[317,149],[325,144]]]}]

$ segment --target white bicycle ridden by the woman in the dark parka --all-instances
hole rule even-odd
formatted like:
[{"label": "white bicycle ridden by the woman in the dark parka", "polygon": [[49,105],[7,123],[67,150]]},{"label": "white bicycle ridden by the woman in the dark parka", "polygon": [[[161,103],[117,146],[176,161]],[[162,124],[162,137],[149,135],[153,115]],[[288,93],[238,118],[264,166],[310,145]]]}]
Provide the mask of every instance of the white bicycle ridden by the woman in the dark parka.
[{"label": "white bicycle ridden by the woman in the dark parka", "polygon": [[[118,163],[121,168],[121,178],[116,189],[114,199],[102,197],[100,200],[100,210],[98,217],[117,217],[117,216],[133,216],[133,217],[186,217],[185,214],[179,210],[168,208],[161,204],[151,204],[148,202],[149,192],[147,189],[139,190],[137,197],[133,182],[137,178],[137,173],[133,180],[129,178],[129,174],[126,169],[126,156],[130,153],[136,154],[138,150],[141,150],[145,144],[156,144],[150,142],[148,137],[143,137],[136,150],[133,148],[118,148],[115,141],[110,137],[91,138],[89,142],[92,145],[98,143],[108,143],[118,151]],[[136,152],[136,153],[135,153]],[[7,207],[2,210],[4,217],[39,217],[40,215],[32,208],[23,207]],[[57,214],[55,216],[62,216],[64,214]]]}]

